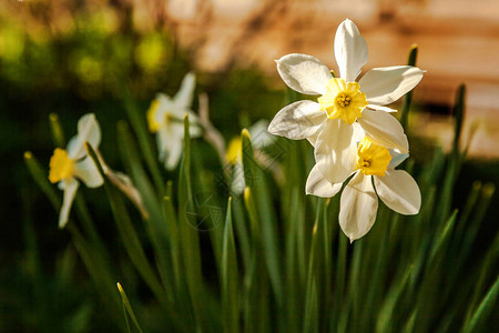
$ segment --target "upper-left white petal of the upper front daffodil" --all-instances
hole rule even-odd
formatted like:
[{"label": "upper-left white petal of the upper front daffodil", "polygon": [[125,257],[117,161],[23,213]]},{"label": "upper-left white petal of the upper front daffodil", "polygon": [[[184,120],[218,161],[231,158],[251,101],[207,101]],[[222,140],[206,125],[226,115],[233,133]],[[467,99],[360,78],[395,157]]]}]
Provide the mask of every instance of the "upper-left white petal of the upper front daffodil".
[{"label": "upper-left white petal of the upper front daffodil", "polygon": [[301,93],[324,94],[327,82],[333,78],[329,69],[312,56],[292,53],[276,62],[284,82]]}]

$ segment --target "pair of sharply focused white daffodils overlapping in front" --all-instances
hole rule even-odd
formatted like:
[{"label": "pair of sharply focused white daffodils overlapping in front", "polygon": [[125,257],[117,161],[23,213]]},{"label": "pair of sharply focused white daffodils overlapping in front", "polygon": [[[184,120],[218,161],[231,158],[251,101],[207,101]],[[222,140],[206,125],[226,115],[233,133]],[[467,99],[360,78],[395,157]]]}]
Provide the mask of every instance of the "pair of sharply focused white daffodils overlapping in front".
[{"label": "pair of sharply focused white daffodils overlapping in front", "polygon": [[415,88],[425,71],[411,65],[375,68],[356,81],[368,53],[348,19],[336,31],[334,51],[339,78],[312,56],[293,53],[277,60],[277,71],[291,89],[318,98],[283,108],[268,131],[312,143],[316,164],[306,192],[330,198],[344,188],[339,224],[353,242],[373,226],[378,196],[401,214],[419,211],[417,183],[395,170],[408,157],[409,144],[390,114],[396,110],[386,105]]}]

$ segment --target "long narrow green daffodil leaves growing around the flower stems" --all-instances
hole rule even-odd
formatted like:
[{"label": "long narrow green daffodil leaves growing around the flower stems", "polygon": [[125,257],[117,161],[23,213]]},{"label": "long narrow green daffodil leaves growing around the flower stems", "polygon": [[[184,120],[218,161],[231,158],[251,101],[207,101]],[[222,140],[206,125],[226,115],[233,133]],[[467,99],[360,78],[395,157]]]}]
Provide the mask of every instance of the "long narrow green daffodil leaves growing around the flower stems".
[{"label": "long narrow green daffodil leaves growing around the flower stems", "polygon": [[[459,89],[457,98],[460,112],[464,91]],[[129,301],[121,292],[126,321],[116,322],[116,327],[159,330],[156,317],[146,320],[147,309],[155,309],[152,313],[174,332],[487,332],[489,324],[497,324],[492,313],[499,290],[495,268],[499,238],[487,243],[483,258],[472,255],[495,188],[476,182],[462,210],[451,211],[464,160],[458,144],[447,155],[437,150],[432,161],[420,168],[417,180],[424,201],[418,215],[403,216],[381,204],[373,230],[348,244],[338,228],[338,195],[325,200],[304,193],[312,165],[306,142],[277,141],[284,155],[265,169],[243,130],[244,195],[233,193],[227,206],[206,208],[193,200],[206,190],[203,183],[215,182],[193,174],[196,170],[195,174],[215,176],[200,171],[205,155],[194,155],[195,142],[187,134],[179,176],[173,174],[166,186],[154,180],[155,173],[163,176],[161,168],[151,159],[145,122],[130,105],[135,135],[143,135],[141,149],[124,122],[119,124],[119,142],[125,169],[149,212],[143,223],[129,212],[112,183],[106,181],[104,188],[123,255],[150,293],[144,299],[131,287]],[[57,118],[51,121],[57,127]],[[189,133],[187,117],[184,127]],[[57,140],[63,138],[57,128],[52,132]],[[41,167],[30,153],[26,161],[58,209],[59,195]],[[413,167],[410,161],[406,164],[409,172]],[[285,176],[275,179],[272,168],[279,168]],[[212,190],[218,198],[214,202],[223,202],[224,194]],[[111,276],[120,281],[126,276],[120,268],[104,264],[106,249],[113,244],[93,234],[93,222],[83,209],[77,205],[79,219],[70,222],[69,230],[96,290],[114,304],[109,311],[115,317],[112,313],[120,305],[115,294],[111,296],[115,283]],[[226,211],[225,221],[200,230],[200,220],[220,218],[216,210]]]}]

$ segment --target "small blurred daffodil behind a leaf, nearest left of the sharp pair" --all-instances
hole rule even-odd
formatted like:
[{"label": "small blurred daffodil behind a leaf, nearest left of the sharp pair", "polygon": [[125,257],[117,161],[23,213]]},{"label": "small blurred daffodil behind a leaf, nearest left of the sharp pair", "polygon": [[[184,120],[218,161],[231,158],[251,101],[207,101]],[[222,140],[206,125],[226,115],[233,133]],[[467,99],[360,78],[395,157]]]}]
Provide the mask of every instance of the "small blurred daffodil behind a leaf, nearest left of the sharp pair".
[{"label": "small blurred daffodil behind a leaf, nearest left of the sharp pair", "polygon": [[[254,123],[249,129],[248,133],[252,138],[252,145],[254,149],[254,159],[262,159],[266,161],[265,153],[263,149],[275,142],[275,137],[271,135],[267,131],[268,121],[259,120]],[[231,178],[231,192],[241,195],[246,188],[246,182],[244,180],[244,168],[243,168],[243,140],[241,135],[234,138],[228,142],[227,151],[225,154],[225,160],[227,165],[232,167],[232,178]]]}]

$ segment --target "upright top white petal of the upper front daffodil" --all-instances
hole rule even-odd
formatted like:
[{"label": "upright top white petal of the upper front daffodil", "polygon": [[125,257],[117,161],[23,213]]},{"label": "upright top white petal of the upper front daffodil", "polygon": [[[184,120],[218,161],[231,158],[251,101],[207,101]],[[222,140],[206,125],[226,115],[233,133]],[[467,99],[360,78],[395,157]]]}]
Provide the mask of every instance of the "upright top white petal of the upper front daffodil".
[{"label": "upright top white petal of the upper front daffodil", "polygon": [[340,78],[354,82],[363,65],[367,63],[367,56],[366,41],[355,23],[346,19],[339,24],[335,37],[335,58]]}]

